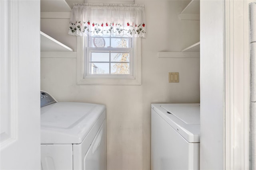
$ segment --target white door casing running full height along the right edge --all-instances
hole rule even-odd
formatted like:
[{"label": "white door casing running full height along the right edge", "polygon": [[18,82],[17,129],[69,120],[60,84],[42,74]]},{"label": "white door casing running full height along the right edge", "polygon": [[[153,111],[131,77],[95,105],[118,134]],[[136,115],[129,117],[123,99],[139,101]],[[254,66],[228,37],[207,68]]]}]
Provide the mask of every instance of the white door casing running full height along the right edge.
[{"label": "white door casing running full height along the right edge", "polygon": [[248,25],[248,1],[225,1],[225,169],[249,169]]}]

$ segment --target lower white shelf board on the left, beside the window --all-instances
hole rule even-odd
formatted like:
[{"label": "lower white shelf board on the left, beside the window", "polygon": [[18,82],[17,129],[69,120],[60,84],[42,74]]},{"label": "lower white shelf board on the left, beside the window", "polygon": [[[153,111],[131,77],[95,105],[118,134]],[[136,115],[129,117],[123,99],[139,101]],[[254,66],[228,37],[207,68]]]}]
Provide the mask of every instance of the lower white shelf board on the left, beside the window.
[{"label": "lower white shelf board on the left, beside the window", "polygon": [[70,47],[60,43],[56,39],[40,31],[41,34],[41,51],[74,51]]}]

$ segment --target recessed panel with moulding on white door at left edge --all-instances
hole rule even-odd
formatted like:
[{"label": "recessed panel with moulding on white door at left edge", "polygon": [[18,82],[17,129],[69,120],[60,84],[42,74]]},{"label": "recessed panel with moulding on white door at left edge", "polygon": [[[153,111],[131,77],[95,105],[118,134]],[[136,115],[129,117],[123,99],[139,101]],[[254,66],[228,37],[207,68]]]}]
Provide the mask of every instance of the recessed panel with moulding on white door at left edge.
[{"label": "recessed panel with moulding on white door at left edge", "polygon": [[[1,1],[1,150],[10,146],[18,138],[18,61],[19,30],[15,23],[19,21],[18,3]],[[11,23],[9,21],[12,21]],[[12,32],[6,34],[6,32]],[[4,61],[4,63],[2,63]],[[3,64],[3,65],[2,65]],[[2,80],[6,80],[2,82]],[[7,91],[6,91],[7,90]],[[3,111],[3,112],[2,112]],[[3,122],[5,121],[5,122]],[[2,127],[3,125],[1,125]],[[3,131],[4,130],[4,131]]]}]

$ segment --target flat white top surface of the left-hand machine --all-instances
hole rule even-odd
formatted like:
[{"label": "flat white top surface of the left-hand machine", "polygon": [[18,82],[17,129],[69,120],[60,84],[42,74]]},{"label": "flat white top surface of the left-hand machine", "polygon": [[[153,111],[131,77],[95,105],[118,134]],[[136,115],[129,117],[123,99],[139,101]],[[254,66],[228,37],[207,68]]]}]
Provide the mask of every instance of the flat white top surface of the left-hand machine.
[{"label": "flat white top surface of the left-hand machine", "polygon": [[41,144],[82,143],[105,109],[103,105],[78,102],[41,107]]}]

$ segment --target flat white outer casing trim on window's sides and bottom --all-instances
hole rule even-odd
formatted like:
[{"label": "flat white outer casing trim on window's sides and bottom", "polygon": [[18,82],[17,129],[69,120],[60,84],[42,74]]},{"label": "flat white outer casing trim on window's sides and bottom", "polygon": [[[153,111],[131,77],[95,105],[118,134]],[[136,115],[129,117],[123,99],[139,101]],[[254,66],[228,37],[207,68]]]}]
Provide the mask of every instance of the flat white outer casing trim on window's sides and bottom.
[{"label": "flat white outer casing trim on window's sides and bottom", "polygon": [[84,77],[84,37],[77,37],[76,83],[101,85],[141,85],[141,38],[135,38],[134,44],[134,78],[90,78]]}]

